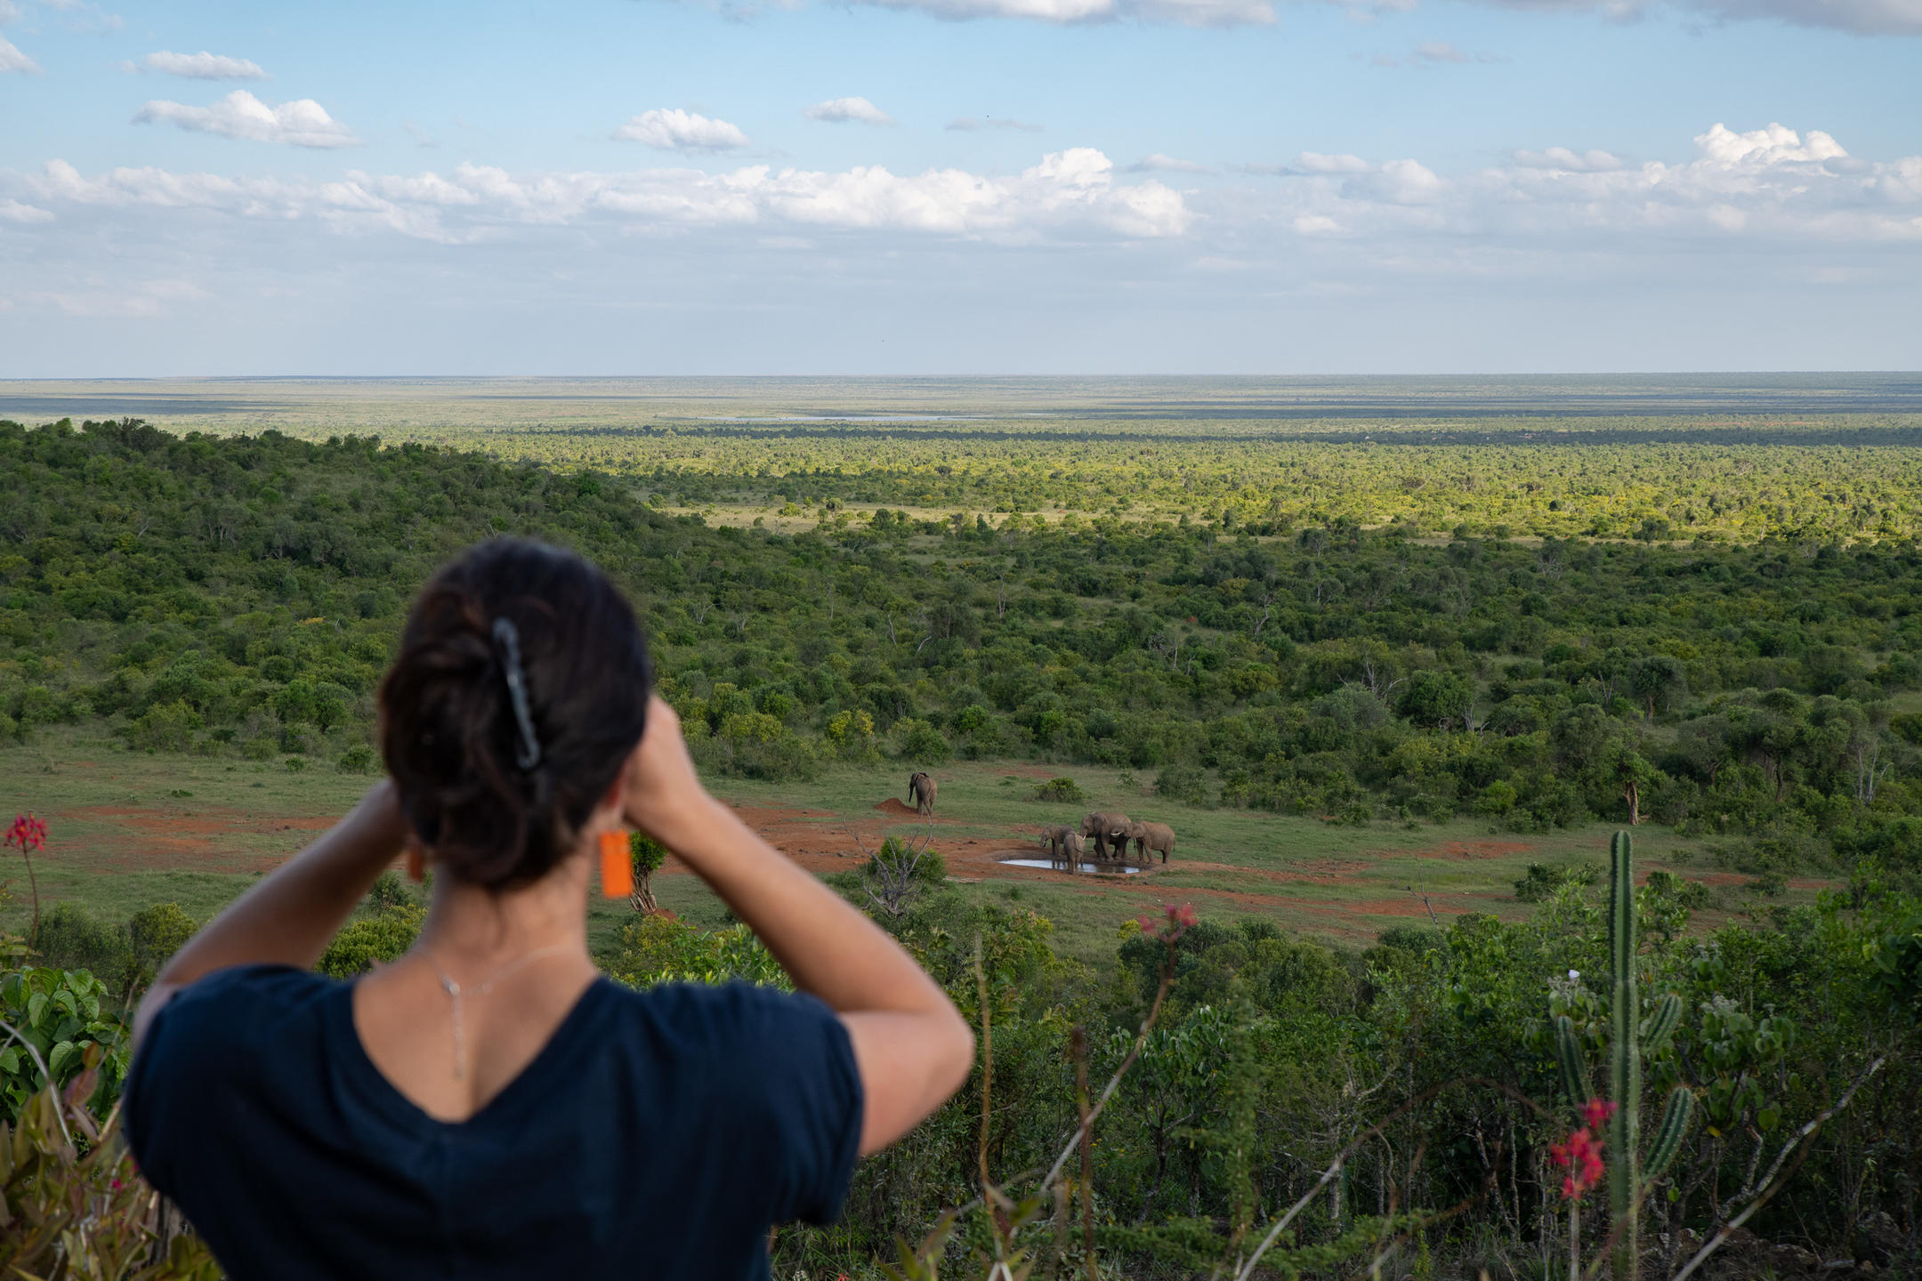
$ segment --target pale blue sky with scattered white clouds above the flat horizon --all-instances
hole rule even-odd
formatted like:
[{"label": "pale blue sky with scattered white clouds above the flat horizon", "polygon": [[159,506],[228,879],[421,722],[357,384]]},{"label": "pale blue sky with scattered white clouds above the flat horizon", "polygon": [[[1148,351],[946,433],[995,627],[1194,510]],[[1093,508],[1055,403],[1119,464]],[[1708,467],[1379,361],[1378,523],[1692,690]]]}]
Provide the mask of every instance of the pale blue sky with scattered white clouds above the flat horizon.
[{"label": "pale blue sky with scattered white clouds above the flat horizon", "polygon": [[1922,346],[1922,0],[0,0],[0,376]]}]

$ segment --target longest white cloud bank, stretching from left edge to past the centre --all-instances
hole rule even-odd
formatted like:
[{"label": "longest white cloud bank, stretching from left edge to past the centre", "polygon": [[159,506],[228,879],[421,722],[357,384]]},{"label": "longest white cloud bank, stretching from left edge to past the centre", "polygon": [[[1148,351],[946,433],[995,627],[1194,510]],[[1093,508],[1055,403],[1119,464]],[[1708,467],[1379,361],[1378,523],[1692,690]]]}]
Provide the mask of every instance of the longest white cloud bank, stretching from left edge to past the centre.
[{"label": "longest white cloud bank, stretching from left edge to past the centre", "polygon": [[50,161],[31,182],[50,204],[158,205],[238,217],[315,219],[338,230],[390,230],[440,242],[496,238],[515,227],[740,227],[944,234],[974,240],[1182,236],[1194,213],[1155,181],[1117,182],[1094,148],[1044,156],[1017,177],[959,169],[896,175],[880,165],[840,173],[750,165],[698,169],[509,175],[459,165],[448,175],[350,171],[334,182],[229,179],[163,169],[81,175]]}]

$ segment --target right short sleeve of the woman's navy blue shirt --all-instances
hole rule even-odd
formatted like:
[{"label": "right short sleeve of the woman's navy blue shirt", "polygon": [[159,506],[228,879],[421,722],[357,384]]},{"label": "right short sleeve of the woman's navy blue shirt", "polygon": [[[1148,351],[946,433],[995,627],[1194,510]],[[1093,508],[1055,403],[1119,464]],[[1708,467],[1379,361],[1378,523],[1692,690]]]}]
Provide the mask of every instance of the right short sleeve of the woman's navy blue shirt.
[{"label": "right short sleeve of the woman's navy blue shirt", "polygon": [[[713,991],[713,989],[711,989]],[[715,991],[746,1173],[767,1179],[769,1220],[828,1225],[861,1150],[863,1093],[848,1029],[821,1001],[748,983]]]}]

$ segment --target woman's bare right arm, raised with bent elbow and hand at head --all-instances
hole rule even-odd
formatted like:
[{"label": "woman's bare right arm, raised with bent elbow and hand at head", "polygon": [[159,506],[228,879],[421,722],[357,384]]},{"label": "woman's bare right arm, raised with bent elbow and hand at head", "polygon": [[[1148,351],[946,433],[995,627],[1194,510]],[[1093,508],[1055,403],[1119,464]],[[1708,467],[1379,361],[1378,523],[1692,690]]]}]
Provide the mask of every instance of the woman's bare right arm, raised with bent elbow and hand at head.
[{"label": "woman's bare right arm, raised with bent elbow and hand at head", "polygon": [[713,885],[853,1041],[867,1110],[861,1152],[894,1143],[961,1087],[974,1033],[880,926],[707,795],[680,718],[659,697],[625,776],[625,818]]}]

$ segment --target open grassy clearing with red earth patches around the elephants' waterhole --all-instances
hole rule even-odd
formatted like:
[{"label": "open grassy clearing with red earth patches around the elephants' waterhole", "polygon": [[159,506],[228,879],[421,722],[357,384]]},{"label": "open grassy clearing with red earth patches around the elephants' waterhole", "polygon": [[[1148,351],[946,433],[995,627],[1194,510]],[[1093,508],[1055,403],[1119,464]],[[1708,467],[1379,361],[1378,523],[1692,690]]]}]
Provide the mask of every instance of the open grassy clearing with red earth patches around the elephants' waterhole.
[{"label": "open grassy clearing with red earth patches around the elephants' waterhole", "polygon": [[[942,784],[934,849],[965,895],[1030,906],[1055,922],[1061,951],[1090,962],[1113,956],[1117,928],[1157,903],[1192,901],[1219,920],[1259,916],[1336,945],[1365,945],[1390,926],[1447,924],[1463,912],[1516,920],[1515,899],[1526,864],[1601,860],[1609,828],[1595,824],[1545,835],[1495,832],[1486,822],[1334,826],[1318,818],[1234,809],[1197,809],[1144,795],[1117,770],[1067,770],[1090,809],[1122,809],[1174,826],[1172,862],[1142,876],[1069,876],[999,862],[1034,853],[1034,834],[1076,820],[1082,807],[1036,801],[1034,787],[1053,770],[955,762]],[[117,739],[52,730],[31,745],[0,749],[0,809],[31,810],[50,828],[35,860],[42,906],[67,901],[123,920],[150,903],[179,903],[206,920],[254,880],[325,830],[369,786],[359,774],[288,772],[281,762],[221,761],[129,751]],[[884,832],[919,835],[901,812],[894,768],[838,766],[807,784],[709,780],[715,795],[776,847],[817,872],[857,870],[857,845]],[[894,797],[890,801],[890,797]],[[1714,928],[1739,912],[1745,878],[1716,872],[1699,843],[1666,828],[1645,828],[1643,868],[1674,868],[1718,887],[1718,910],[1697,918]],[[17,858],[17,857],[15,857]],[[13,862],[0,878],[12,901],[0,924],[23,930],[31,914],[29,878]],[[1811,899],[1822,880],[1795,880],[1784,899]],[[1426,903],[1424,903],[1426,895]],[[669,864],[657,899],[700,924],[721,924],[725,906],[684,868]],[[598,947],[630,920],[625,901],[596,901],[590,930]]]}]

